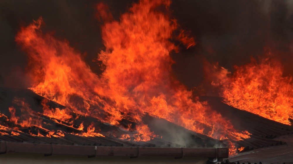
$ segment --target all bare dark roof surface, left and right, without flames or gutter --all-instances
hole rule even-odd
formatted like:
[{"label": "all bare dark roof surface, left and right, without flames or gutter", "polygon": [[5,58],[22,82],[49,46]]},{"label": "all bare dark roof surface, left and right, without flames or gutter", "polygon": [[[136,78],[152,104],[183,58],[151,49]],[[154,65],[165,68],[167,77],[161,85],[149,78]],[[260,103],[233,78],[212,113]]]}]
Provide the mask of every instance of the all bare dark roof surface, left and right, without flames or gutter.
[{"label": "all bare dark roof surface, left and right, without flames or gutter", "polygon": [[[30,104],[30,108],[35,111],[36,118],[42,119],[44,128],[49,130],[62,130],[64,137],[38,137],[31,136],[26,133],[20,135],[0,135],[2,142],[17,142],[17,143],[35,143],[35,144],[61,144],[61,145],[84,145],[84,146],[141,146],[141,147],[190,147],[190,148],[212,148],[214,145],[225,147],[223,141],[212,139],[205,135],[192,132],[181,126],[175,125],[161,118],[156,118],[146,114],[142,119],[156,135],[161,138],[154,138],[148,142],[134,142],[130,140],[119,139],[117,136],[122,134],[134,134],[135,132],[126,131],[123,128],[112,126],[107,123],[102,123],[96,118],[90,116],[80,116],[74,120],[74,124],[79,125],[84,122],[89,125],[91,122],[100,128],[100,133],[105,137],[82,137],[71,132],[81,132],[77,127],[66,126],[56,123],[49,117],[42,115],[41,101],[44,97],[36,95],[30,90],[19,90],[10,88],[0,88],[0,109],[1,113],[9,116],[8,107],[13,106],[12,101],[15,97],[25,98],[25,101]],[[252,114],[247,111],[239,110],[222,102],[220,97],[200,96],[200,100],[208,101],[212,109],[218,111],[222,117],[229,120],[234,128],[238,130],[248,130],[252,135],[248,139],[236,142],[236,147],[245,147],[238,155],[224,161],[226,163],[275,163],[278,160],[283,162],[292,161],[292,143],[293,130],[292,126],[284,125],[267,118]],[[65,108],[55,102],[49,101],[51,108]],[[0,120],[1,123],[8,123],[5,120]],[[60,120],[59,120],[60,121]],[[126,120],[124,120],[126,121]],[[122,121],[123,124],[123,121]],[[127,124],[127,123],[126,123]],[[157,126],[160,125],[160,126]],[[85,126],[86,127],[86,126]],[[30,132],[36,134],[38,127],[31,127]],[[7,131],[11,134],[11,131]],[[279,156],[279,157],[278,157]],[[267,159],[267,160],[266,160]]]}]

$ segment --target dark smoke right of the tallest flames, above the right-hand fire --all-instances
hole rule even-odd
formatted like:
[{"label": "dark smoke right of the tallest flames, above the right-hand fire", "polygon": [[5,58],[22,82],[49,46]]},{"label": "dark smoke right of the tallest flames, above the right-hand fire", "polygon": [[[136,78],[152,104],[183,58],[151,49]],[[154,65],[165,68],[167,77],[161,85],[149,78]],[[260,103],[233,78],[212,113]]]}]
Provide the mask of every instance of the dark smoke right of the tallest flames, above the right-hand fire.
[{"label": "dark smoke right of the tallest flames, above the right-hand fire", "polygon": [[283,63],[285,76],[293,75],[292,1],[173,1],[172,7],[198,43],[174,55],[176,76],[189,88],[202,83],[205,60],[233,71],[269,50]]}]

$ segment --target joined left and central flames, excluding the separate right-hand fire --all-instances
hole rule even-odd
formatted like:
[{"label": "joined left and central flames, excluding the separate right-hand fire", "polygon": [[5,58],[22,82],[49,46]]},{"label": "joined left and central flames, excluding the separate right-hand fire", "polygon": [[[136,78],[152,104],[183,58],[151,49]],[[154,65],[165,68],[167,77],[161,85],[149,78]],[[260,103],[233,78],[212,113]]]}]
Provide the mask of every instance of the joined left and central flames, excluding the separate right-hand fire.
[{"label": "joined left and central flames, excluding the separate right-hand fire", "polygon": [[[105,123],[119,126],[123,118],[128,119],[136,124],[137,141],[157,137],[142,123],[145,113],[217,139],[248,138],[247,131],[235,130],[207,102],[193,98],[192,92],[173,77],[170,52],[178,51],[178,47],[170,40],[178,39],[187,48],[194,46],[195,41],[183,30],[173,37],[178,30],[176,20],[159,10],[167,11],[170,4],[169,0],[142,0],[121,15],[119,22],[105,22],[102,27],[105,50],[97,58],[103,63],[100,76],[91,71],[68,41],[43,34],[42,18],[22,27],[16,42],[29,56],[30,89],[74,113],[90,115]],[[98,16],[112,19],[108,13]],[[47,116],[70,118],[68,109],[44,108]],[[91,124],[82,136],[103,136],[94,130]]]}]

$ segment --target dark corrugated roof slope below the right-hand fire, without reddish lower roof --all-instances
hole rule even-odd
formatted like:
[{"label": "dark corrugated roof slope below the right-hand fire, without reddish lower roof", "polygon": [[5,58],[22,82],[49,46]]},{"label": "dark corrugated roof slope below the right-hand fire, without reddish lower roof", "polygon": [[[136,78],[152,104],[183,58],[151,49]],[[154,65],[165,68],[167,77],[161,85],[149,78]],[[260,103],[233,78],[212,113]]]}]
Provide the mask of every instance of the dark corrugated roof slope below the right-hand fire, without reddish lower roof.
[{"label": "dark corrugated roof slope below the right-hand fire, without reddish lower roof", "polygon": [[236,147],[245,147],[244,152],[267,146],[282,145],[284,142],[276,137],[293,134],[292,126],[231,107],[225,104],[221,97],[200,96],[200,99],[207,101],[212,109],[229,120],[236,129],[247,130],[252,134],[250,138],[236,142]]}]

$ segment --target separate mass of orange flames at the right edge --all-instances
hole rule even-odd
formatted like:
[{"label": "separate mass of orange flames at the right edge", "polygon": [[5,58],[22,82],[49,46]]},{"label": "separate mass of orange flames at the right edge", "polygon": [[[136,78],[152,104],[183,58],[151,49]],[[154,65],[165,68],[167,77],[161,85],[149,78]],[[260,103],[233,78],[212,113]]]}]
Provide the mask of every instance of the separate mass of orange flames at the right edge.
[{"label": "separate mass of orange flames at the right edge", "polygon": [[252,59],[249,64],[235,67],[234,74],[225,81],[222,96],[227,104],[291,124],[288,119],[293,118],[292,77],[283,76],[279,62],[266,59],[258,64]]}]

